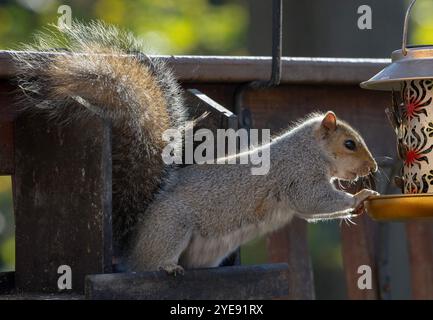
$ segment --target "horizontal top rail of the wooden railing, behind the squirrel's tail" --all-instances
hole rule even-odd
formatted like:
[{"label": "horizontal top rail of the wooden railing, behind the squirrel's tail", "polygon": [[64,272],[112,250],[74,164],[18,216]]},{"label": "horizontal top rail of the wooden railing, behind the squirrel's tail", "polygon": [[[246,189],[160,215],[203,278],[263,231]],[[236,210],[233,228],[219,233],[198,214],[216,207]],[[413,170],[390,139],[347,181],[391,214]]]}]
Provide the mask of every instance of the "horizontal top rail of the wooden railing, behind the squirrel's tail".
[{"label": "horizontal top rail of the wooden railing, behind the squirrel's tail", "polygon": [[[47,52],[59,55],[60,52]],[[182,82],[232,82],[268,80],[270,57],[160,56]],[[371,78],[389,59],[282,58],[282,83],[358,84]],[[0,50],[0,78],[15,74],[10,51]]]}]

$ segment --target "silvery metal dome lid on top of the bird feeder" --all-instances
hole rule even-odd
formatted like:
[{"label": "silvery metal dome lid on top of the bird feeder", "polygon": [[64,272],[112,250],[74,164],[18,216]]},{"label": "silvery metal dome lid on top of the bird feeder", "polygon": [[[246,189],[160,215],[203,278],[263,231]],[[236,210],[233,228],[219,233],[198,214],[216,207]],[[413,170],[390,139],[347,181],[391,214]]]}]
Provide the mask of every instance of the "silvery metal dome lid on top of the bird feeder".
[{"label": "silvery metal dome lid on top of the bird feeder", "polygon": [[368,81],[361,88],[372,90],[401,90],[401,83],[407,80],[433,79],[433,46],[408,46],[392,53],[392,63]]}]

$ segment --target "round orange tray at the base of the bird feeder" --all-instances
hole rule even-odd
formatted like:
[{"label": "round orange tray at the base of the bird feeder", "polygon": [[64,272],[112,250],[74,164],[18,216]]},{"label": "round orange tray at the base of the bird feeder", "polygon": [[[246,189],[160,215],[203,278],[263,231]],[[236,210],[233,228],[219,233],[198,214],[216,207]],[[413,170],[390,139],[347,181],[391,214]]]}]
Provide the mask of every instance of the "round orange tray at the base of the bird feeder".
[{"label": "round orange tray at the base of the bird feeder", "polygon": [[372,196],[364,202],[375,220],[433,218],[433,194],[393,194]]}]

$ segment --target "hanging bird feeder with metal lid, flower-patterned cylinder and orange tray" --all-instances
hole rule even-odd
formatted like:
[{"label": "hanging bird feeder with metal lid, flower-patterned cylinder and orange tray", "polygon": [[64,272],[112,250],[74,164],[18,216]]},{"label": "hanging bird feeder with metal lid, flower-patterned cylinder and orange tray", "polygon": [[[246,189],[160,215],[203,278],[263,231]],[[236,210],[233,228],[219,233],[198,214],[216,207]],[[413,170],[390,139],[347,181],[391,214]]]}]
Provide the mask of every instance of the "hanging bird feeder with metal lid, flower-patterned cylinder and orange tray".
[{"label": "hanging bird feeder with metal lid, flower-patterned cylinder and orange tray", "polygon": [[402,48],[392,53],[392,63],[361,87],[392,92],[386,114],[397,136],[403,161],[396,177],[404,195],[373,197],[367,212],[376,219],[433,217],[433,46],[407,46],[413,0],[406,12]]}]

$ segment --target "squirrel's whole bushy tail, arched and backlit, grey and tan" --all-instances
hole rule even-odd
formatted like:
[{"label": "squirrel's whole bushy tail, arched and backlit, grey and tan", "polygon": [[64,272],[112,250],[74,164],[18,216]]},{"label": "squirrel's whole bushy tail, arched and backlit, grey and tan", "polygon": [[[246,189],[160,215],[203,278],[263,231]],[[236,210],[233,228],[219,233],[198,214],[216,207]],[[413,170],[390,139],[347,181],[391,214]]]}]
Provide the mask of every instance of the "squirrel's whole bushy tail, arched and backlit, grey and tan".
[{"label": "squirrel's whole bushy tail, arched and backlit, grey and tan", "polygon": [[27,109],[65,122],[89,114],[111,119],[117,242],[164,178],[162,133],[178,128],[185,116],[171,71],[140,52],[142,45],[128,32],[74,21],[61,32],[37,34],[34,44],[14,54]]}]

